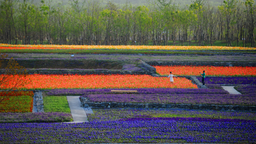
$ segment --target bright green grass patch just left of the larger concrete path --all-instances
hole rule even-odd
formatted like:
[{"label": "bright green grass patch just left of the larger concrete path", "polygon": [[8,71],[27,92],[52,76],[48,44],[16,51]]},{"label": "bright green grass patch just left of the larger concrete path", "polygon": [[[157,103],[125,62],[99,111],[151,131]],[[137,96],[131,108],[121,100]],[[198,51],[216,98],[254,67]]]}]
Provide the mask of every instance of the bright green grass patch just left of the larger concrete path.
[{"label": "bright green grass patch just left of the larger concrete path", "polygon": [[66,96],[45,96],[44,112],[63,112],[70,113],[68,100]]}]

